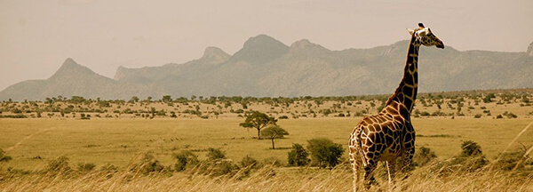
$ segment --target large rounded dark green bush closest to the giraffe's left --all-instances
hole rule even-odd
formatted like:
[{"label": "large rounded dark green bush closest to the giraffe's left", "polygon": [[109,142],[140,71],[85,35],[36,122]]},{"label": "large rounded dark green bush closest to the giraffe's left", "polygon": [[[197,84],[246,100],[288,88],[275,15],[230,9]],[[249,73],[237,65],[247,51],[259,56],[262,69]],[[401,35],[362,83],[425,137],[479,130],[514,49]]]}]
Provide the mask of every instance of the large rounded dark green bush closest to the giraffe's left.
[{"label": "large rounded dark green bush closest to the giraffe's left", "polygon": [[344,152],[341,144],[326,138],[307,140],[307,142],[309,143],[307,149],[311,152],[313,164],[322,168],[326,166],[333,168],[340,163],[340,157]]}]

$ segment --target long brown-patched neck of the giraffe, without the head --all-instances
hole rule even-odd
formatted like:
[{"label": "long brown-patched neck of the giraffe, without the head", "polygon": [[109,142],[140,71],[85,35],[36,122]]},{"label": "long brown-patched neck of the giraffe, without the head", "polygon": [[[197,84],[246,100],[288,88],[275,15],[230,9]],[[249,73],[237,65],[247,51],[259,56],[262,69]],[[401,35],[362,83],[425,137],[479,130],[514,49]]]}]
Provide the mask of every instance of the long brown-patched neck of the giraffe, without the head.
[{"label": "long brown-patched neck of the giraffe, without the head", "polygon": [[409,50],[407,52],[407,60],[405,62],[405,69],[403,70],[403,78],[394,94],[386,101],[389,105],[393,101],[402,103],[407,107],[409,112],[415,106],[418,92],[418,50],[420,43],[417,40],[416,33],[411,36]]}]

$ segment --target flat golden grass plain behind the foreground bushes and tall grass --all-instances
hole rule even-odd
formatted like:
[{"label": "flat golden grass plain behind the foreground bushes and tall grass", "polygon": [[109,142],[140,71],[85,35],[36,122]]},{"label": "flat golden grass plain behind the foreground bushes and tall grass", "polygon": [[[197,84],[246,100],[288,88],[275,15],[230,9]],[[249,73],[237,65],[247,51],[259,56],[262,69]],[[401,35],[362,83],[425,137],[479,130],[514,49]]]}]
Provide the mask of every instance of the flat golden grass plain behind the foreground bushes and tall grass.
[{"label": "flat golden grass plain behind the foreground bushes and tall grass", "polygon": [[[306,140],[326,137],[347,148],[347,138],[358,118],[299,118],[280,120],[290,132],[286,139],[276,140],[282,149],[270,149],[270,140],[254,140],[255,130],[239,127],[242,118],[234,119],[2,119],[0,148],[13,160],[4,166],[35,170],[48,160],[68,156],[72,163],[97,165],[131,164],[131,159],[153,152],[163,164],[174,164],[172,153],[193,150],[201,159],[207,148],[221,148],[227,157],[240,161],[243,156],[258,160],[275,157],[286,161],[293,143],[306,145]],[[417,146],[435,151],[441,159],[460,152],[460,143],[473,140],[483,153],[494,159],[513,140],[529,119],[421,119],[413,124],[418,134]],[[513,143],[533,145],[533,130]],[[42,159],[36,158],[40,156]],[[344,154],[347,158],[347,153]]]}]

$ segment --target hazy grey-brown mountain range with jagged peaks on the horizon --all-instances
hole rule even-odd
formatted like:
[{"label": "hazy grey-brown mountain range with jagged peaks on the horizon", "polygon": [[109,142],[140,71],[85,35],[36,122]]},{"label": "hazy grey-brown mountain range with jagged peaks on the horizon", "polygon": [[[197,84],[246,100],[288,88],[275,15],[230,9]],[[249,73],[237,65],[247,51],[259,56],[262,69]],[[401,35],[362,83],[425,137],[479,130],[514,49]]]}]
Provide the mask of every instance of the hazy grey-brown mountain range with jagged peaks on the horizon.
[{"label": "hazy grey-brown mountain range with jagged peaks on the horizon", "polygon": [[[129,100],[202,96],[342,96],[392,93],[400,83],[408,41],[331,51],[306,39],[286,45],[271,36],[248,39],[230,55],[208,47],[203,57],[158,67],[124,68],[100,76],[67,59],[45,80],[13,84],[0,100],[83,96]],[[460,52],[421,47],[419,92],[533,87],[533,43],[526,52]]]}]

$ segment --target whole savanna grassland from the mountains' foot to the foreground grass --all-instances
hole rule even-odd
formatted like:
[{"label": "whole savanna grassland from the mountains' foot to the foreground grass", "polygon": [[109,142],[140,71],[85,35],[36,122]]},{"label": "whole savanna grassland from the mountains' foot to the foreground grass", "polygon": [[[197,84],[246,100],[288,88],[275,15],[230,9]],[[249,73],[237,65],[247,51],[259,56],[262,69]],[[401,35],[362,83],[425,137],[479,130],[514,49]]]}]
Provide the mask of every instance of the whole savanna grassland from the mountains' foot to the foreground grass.
[{"label": "whole savanna grassland from the mountains' foot to the foreground grass", "polygon": [[[0,161],[0,188],[347,191],[352,185],[348,136],[384,100],[378,95],[4,101],[0,148],[11,159]],[[416,145],[429,148],[434,157],[418,150],[410,177],[393,184],[379,167],[380,184],[370,190],[532,191],[529,100],[531,90],[421,94],[412,114]],[[255,130],[239,125],[251,110],[274,116],[290,133],[275,140],[276,149],[271,140],[257,140]],[[314,138],[342,145],[340,164],[289,166],[293,144],[306,146]],[[466,156],[461,147],[466,140],[474,141],[480,153]],[[210,148],[223,152],[224,160],[210,161]],[[199,163],[178,170],[176,154],[183,151]]]}]

